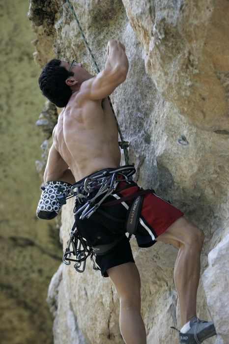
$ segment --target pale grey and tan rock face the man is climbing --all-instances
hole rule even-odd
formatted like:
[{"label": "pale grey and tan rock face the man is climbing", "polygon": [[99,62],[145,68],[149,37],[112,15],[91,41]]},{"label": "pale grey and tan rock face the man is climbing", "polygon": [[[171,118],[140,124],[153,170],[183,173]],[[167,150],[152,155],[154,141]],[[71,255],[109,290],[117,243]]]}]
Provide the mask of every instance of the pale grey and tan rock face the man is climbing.
[{"label": "pale grey and tan rock face the man is climbing", "polygon": [[[224,300],[229,299],[229,288],[224,274],[229,263],[215,247],[222,247],[226,255],[229,2],[71,3],[100,69],[106,61],[109,39],[118,39],[126,46],[128,76],[111,98],[124,138],[130,141],[130,162],[137,168],[135,180],[170,199],[203,229],[198,315],[216,322],[219,336],[206,343],[227,344],[229,306]],[[56,56],[82,61],[93,72],[67,2],[30,0],[29,18],[37,35],[36,61],[40,67]],[[73,222],[73,206],[70,200],[62,211],[63,249]],[[140,249],[135,239],[131,246],[142,279],[147,343],[175,344],[177,334],[170,326],[180,326],[172,277],[177,252],[162,243]],[[73,266],[61,265],[48,299],[55,315],[55,344],[123,343],[117,294],[111,281],[102,279],[89,262],[84,274],[77,274]]]}]

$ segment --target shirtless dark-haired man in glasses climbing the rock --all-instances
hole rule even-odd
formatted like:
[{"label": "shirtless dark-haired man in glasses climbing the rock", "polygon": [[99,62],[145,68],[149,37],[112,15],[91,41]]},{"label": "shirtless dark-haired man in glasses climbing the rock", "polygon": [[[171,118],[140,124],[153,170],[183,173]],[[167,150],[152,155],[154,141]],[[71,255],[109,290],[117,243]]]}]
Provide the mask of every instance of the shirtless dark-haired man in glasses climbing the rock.
[{"label": "shirtless dark-haired man in glasses climbing the rock", "polygon": [[[104,173],[107,178],[113,174],[118,178],[110,199],[120,199],[140,189],[128,177],[125,167],[120,167],[118,131],[107,98],[126,79],[128,59],[124,45],[110,40],[107,55],[105,68],[97,76],[90,75],[81,63],[74,60],[70,63],[53,59],[46,64],[39,77],[43,94],[58,107],[65,107],[53,131],[53,145],[44,173],[45,187],[37,208],[40,218],[50,219],[57,215],[61,207],[57,190],[58,194],[62,192],[62,196],[66,197],[77,181],[84,193],[82,185],[88,176],[96,179]],[[86,195],[89,194],[85,192],[85,199],[76,198],[75,214],[87,200]],[[80,219],[81,213],[75,218],[88,246],[109,244],[118,238],[112,250],[96,256],[96,262],[101,274],[109,276],[117,290],[120,331],[125,343],[145,344],[146,333],[140,311],[140,276],[129,241],[124,235],[124,220],[131,202],[133,199],[110,207],[103,207],[102,204],[99,209],[103,208],[104,214],[105,211],[111,212],[109,221],[106,214],[103,217],[99,210],[89,218]],[[146,211],[146,207],[150,207],[150,211]],[[114,219],[120,217],[120,222],[111,221],[112,216]],[[116,234],[113,227],[118,227]],[[182,325],[179,343],[202,343],[215,335],[213,322],[201,321],[196,316],[202,231],[178,209],[151,191],[143,196],[136,239],[141,247],[162,241],[178,249],[174,282]]]}]

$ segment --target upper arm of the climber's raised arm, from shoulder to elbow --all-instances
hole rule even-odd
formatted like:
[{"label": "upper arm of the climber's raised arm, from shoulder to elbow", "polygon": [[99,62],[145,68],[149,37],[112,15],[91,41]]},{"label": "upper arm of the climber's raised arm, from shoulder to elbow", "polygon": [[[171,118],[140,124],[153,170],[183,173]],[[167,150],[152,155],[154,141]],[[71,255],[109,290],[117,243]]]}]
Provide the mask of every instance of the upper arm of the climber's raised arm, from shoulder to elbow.
[{"label": "upper arm of the climber's raised arm, from shoulder to elbow", "polygon": [[112,71],[104,69],[88,83],[88,98],[98,100],[108,97],[125,79],[126,74],[120,68]]}]

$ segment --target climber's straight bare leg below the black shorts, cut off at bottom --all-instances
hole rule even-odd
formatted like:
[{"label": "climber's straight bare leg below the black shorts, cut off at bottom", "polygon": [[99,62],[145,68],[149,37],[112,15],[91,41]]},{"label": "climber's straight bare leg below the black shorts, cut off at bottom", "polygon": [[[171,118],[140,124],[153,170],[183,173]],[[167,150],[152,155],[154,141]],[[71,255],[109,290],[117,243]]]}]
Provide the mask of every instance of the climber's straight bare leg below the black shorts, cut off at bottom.
[{"label": "climber's straight bare leg below the black shorts, cut off at bottom", "polygon": [[107,270],[120,302],[120,331],[126,344],[146,344],[145,327],[141,315],[141,282],[133,262]]}]

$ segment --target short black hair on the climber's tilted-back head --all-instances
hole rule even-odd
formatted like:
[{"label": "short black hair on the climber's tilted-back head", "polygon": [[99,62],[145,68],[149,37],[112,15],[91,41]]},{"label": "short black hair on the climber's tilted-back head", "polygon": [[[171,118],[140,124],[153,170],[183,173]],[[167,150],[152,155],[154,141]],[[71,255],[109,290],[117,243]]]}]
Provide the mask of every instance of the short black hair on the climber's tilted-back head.
[{"label": "short black hair on the climber's tilted-back head", "polygon": [[43,95],[59,108],[67,105],[72,95],[70,86],[65,84],[65,80],[74,75],[68,73],[66,68],[60,66],[61,60],[52,59],[43,68],[38,84]]}]

